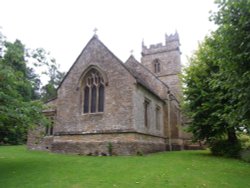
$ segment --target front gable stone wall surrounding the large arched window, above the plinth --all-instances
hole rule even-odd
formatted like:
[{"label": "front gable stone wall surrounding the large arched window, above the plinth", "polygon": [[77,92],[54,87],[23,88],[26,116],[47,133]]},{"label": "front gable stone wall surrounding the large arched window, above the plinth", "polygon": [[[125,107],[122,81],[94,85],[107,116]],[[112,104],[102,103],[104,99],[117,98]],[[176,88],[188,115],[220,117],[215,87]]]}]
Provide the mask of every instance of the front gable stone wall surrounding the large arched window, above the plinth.
[{"label": "front gable stone wall surrounding the large arched window, above the plinth", "polygon": [[[103,113],[82,113],[81,77],[89,66],[98,67],[107,78]],[[126,67],[92,38],[58,90],[55,133],[131,128],[134,83]]]}]

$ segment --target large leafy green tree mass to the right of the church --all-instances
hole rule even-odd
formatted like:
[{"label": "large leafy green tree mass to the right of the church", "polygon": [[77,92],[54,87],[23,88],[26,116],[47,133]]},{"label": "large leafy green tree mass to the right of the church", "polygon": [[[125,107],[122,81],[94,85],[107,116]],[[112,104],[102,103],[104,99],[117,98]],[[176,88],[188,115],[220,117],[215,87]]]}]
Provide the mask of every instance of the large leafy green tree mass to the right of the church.
[{"label": "large leafy green tree mass to the right of the church", "polygon": [[[219,27],[200,45],[185,71],[184,109],[192,119],[189,131],[195,140],[236,156],[236,131],[250,127],[250,1],[217,3],[219,11],[211,20]],[[223,144],[218,142],[222,139]]]}]

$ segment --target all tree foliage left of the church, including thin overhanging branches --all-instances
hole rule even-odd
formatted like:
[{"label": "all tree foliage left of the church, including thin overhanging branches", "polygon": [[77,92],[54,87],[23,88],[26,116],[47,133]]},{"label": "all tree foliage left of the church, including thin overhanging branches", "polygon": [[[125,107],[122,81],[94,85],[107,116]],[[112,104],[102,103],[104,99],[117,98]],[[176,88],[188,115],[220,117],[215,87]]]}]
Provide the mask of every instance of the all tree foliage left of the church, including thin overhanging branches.
[{"label": "all tree foliage left of the church, including thin overhanging branches", "polygon": [[[41,100],[56,96],[64,73],[58,70],[55,60],[47,61],[45,50],[35,49],[31,53],[20,40],[12,43],[1,33],[0,36],[0,144],[20,144],[26,141],[30,126],[49,124],[42,114]],[[33,68],[28,66],[30,58],[35,62]],[[42,65],[48,69],[44,74],[49,77],[52,92],[41,91],[41,79],[35,68]]]}]

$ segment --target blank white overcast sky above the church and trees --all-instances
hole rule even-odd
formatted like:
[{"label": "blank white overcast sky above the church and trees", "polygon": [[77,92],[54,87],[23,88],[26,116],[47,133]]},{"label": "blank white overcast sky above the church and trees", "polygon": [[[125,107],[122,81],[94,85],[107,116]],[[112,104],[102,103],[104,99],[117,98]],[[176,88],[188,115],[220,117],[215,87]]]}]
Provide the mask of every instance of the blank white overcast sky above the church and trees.
[{"label": "blank white overcast sky above the church and trees", "polygon": [[165,33],[180,36],[182,62],[215,26],[209,11],[214,0],[0,0],[0,26],[7,39],[28,48],[42,47],[61,65],[70,66],[98,28],[99,39],[122,61],[141,42],[164,42]]}]

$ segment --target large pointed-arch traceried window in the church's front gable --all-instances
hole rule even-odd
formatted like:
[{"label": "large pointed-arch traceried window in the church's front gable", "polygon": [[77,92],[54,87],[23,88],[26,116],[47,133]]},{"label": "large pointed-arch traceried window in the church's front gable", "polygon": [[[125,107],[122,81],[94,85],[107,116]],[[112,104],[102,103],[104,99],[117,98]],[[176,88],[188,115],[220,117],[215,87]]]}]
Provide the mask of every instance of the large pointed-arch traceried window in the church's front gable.
[{"label": "large pointed-arch traceried window in the church's front gable", "polygon": [[83,80],[83,113],[104,111],[104,79],[96,69],[90,69]]}]

